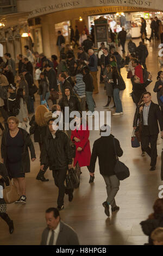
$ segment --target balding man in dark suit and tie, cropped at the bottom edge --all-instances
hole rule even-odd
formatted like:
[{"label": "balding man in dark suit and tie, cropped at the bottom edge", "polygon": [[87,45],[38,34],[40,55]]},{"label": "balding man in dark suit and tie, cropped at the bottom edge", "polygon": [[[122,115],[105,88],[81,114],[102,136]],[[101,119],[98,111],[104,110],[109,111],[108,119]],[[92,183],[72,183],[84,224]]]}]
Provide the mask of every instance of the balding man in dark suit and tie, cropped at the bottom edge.
[{"label": "balding man in dark suit and tie, cropped at the bottom edge", "polygon": [[47,228],[43,230],[41,245],[79,245],[77,233],[60,220],[56,208],[46,210]]}]

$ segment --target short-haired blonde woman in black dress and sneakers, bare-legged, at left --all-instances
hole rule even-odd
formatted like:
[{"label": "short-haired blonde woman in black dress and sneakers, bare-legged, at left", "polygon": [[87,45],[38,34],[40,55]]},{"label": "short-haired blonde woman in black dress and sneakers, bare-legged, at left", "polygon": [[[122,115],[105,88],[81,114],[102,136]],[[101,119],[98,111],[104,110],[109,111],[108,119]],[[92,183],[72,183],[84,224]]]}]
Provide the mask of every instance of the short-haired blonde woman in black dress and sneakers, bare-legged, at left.
[{"label": "short-haired blonde woman in black dress and sneakers, bare-legged, at left", "polygon": [[18,128],[16,117],[8,118],[9,130],[5,130],[2,136],[1,154],[5,167],[8,169],[10,178],[14,179],[14,184],[20,194],[20,199],[15,203],[26,204],[26,180],[25,173],[30,172],[30,159],[36,159],[34,145],[28,132]]}]

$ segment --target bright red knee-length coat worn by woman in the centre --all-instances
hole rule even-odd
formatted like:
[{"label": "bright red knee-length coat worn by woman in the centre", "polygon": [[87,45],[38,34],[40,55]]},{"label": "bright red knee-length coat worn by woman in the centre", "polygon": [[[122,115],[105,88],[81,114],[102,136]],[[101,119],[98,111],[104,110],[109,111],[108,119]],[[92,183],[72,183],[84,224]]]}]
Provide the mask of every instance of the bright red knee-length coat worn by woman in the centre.
[{"label": "bright red knee-length coat worn by woman in the centre", "polygon": [[[80,142],[74,142],[76,145],[76,157],[74,158],[74,166],[76,166],[77,162],[80,167],[89,166],[91,161],[91,149],[90,149],[90,141],[89,141],[90,131],[88,126],[86,126],[86,130],[82,130],[82,125],[80,126],[80,130],[77,129],[71,132],[71,140],[73,137],[77,137],[80,139]],[[80,147],[83,150],[77,151],[77,148]]]}]

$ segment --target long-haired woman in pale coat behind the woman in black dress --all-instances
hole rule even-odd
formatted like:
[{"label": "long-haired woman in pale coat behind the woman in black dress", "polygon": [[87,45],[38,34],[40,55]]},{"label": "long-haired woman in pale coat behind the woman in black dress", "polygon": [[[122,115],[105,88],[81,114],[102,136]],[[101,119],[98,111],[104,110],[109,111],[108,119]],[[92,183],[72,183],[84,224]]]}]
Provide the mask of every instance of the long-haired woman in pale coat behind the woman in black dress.
[{"label": "long-haired woman in pale coat behind the woman in black dress", "polygon": [[27,130],[29,133],[29,118],[28,118],[28,111],[27,111],[27,105],[26,101],[24,99],[25,92],[22,88],[18,88],[16,100],[15,100],[15,109],[19,109],[18,114],[16,114],[16,117],[19,120],[18,127]]}]

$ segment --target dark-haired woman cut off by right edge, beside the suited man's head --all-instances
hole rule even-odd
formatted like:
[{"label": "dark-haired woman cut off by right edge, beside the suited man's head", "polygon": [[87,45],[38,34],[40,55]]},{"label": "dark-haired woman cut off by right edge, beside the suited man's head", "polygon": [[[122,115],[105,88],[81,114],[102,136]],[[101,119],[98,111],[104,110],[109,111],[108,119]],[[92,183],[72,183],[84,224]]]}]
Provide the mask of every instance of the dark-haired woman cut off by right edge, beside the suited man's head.
[{"label": "dark-haired woman cut off by right edge, beside the suited man's head", "polygon": [[163,115],[163,102],[160,100],[161,95],[163,95],[163,71],[158,72],[157,81],[155,83],[153,92],[157,93],[158,104],[161,108],[161,113]]}]

